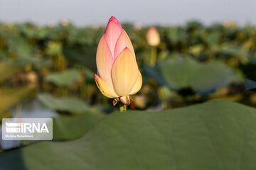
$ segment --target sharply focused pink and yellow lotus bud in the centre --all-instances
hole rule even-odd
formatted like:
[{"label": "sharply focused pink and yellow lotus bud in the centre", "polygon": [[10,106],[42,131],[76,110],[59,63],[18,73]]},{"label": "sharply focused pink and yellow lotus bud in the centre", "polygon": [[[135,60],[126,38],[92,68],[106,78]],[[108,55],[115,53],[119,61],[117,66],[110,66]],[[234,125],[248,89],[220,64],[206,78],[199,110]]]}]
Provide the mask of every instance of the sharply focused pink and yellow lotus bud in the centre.
[{"label": "sharply focused pink and yellow lotus bud in the centre", "polygon": [[102,94],[128,105],[129,95],[142,87],[142,74],[131,40],[113,16],[97,47],[96,62],[95,81]]}]

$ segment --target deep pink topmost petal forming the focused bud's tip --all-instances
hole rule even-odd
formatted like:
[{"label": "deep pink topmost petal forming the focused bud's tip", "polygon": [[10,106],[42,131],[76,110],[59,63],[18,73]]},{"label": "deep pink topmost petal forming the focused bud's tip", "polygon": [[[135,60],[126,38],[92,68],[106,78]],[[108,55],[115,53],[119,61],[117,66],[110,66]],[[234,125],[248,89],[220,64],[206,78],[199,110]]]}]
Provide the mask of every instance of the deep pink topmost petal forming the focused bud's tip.
[{"label": "deep pink topmost petal forming the focused bud's tip", "polygon": [[114,47],[117,43],[117,39],[122,32],[122,26],[120,25],[117,18],[113,16],[110,18],[110,21],[107,23],[107,28],[105,30],[105,37],[107,40],[107,45],[110,47],[110,52],[114,56]]}]

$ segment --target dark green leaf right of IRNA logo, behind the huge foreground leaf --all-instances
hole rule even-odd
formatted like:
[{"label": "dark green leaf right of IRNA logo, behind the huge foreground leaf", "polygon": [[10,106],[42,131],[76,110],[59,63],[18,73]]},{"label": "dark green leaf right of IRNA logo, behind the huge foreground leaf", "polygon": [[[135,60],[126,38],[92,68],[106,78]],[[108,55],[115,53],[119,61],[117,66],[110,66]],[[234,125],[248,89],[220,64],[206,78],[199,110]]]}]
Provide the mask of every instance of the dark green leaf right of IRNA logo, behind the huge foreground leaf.
[{"label": "dark green leaf right of IRNA logo, behind the huge foreground leaf", "polygon": [[53,119],[53,140],[74,140],[90,130],[105,115],[86,111],[79,115],[61,116]]}]

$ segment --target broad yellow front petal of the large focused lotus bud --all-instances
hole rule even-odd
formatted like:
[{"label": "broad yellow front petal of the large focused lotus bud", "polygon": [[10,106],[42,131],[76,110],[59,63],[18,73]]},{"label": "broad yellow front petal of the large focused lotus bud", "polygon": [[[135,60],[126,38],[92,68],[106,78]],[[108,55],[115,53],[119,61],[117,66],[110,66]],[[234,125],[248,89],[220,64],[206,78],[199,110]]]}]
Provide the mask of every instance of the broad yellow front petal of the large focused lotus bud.
[{"label": "broad yellow front petal of the large focused lotus bud", "polygon": [[137,62],[132,52],[125,48],[114,61],[111,75],[114,91],[118,96],[127,96],[138,79]]}]

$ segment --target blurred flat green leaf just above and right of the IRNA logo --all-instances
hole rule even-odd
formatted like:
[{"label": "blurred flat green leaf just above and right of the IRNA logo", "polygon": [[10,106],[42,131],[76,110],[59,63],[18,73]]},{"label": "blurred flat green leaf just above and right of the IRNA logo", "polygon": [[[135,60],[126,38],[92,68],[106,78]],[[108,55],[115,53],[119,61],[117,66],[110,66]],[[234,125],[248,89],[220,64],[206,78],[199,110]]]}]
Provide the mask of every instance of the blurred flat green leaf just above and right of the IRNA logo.
[{"label": "blurred flat green leaf just above and right of the IRNA logo", "polygon": [[57,111],[82,112],[87,111],[87,105],[79,98],[57,98],[51,94],[38,94],[38,100],[48,108]]}]

